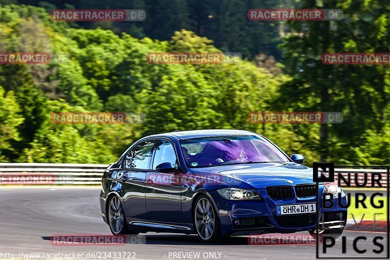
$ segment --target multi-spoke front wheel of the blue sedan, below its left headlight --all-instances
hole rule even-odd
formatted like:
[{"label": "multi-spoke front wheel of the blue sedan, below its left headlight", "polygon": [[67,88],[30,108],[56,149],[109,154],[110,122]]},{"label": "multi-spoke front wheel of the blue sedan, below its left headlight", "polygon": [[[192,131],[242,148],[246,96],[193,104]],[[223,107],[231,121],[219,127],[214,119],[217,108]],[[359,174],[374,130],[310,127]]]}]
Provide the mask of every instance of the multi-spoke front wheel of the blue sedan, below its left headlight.
[{"label": "multi-spoke front wheel of the blue sedan, below its left headlight", "polygon": [[211,200],[205,195],[196,200],[194,227],[202,242],[213,243],[222,237],[216,210]]}]

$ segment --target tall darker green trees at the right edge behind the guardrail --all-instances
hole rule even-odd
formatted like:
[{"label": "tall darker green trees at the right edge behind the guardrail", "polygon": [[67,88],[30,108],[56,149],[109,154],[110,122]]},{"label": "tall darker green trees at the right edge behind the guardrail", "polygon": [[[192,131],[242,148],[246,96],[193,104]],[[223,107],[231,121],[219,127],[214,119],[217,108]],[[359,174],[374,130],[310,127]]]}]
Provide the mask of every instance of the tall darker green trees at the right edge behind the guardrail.
[{"label": "tall darker green trees at the right edge behind the guardrail", "polygon": [[[387,2],[387,1],[385,1]],[[383,1],[304,1],[302,8],[340,8],[341,21],[292,21],[283,44],[292,80],[281,88],[280,106],[294,111],[340,111],[342,124],[321,124],[314,149],[321,160],[358,163],[355,147],[368,129],[380,129],[388,113],[387,65],[325,65],[323,53],[389,52],[389,8]],[[386,6],[389,6],[388,4]],[[304,126],[306,127],[306,126]],[[311,126],[314,130],[315,127]],[[302,130],[303,133],[310,131]]]}]

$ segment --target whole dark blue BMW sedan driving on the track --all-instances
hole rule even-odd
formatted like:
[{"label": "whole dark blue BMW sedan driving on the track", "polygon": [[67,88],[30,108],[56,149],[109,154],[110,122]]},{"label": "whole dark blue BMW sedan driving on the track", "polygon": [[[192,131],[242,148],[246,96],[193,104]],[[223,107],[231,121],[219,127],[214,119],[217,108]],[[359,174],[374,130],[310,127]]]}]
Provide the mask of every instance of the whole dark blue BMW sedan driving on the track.
[{"label": "whole dark blue BMW sedan driving on the track", "polygon": [[[105,170],[101,215],[115,235],[170,232],[214,242],[309,231],[315,238],[318,221],[318,233],[338,238],[347,220],[338,203],[346,204],[345,194],[336,182],[320,183],[317,191],[304,160],[250,131],[148,136]],[[323,193],[332,194],[331,207],[322,205]]]}]

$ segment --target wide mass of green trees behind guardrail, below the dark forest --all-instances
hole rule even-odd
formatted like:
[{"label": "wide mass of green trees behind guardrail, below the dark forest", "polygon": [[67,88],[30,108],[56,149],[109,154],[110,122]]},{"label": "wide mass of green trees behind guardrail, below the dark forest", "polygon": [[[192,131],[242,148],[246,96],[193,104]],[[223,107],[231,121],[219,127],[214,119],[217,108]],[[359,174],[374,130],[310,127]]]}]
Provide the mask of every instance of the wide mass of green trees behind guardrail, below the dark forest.
[{"label": "wide mass of green trees behind guardrail, below the dark forest", "polygon": [[[367,7],[367,2],[375,12]],[[157,32],[148,34],[162,40],[139,39],[133,33],[118,34],[119,27],[75,28],[50,20],[43,8],[3,5],[2,52],[54,52],[66,54],[69,59],[56,64],[0,65],[0,160],[109,163],[134,140],[149,134],[233,128],[259,132],[287,153],[303,154],[309,164],[321,159],[389,164],[388,66],[321,64],[322,52],[389,52],[389,11],[380,9],[374,0],[361,5],[339,5],[348,18],[340,27],[335,22],[289,24],[292,33],[287,35],[282,49],[284,66],[265,66],[248,60],[150,64],[146,61],[149,52],[225,49],[218,40],[219,49],[212,40],[184,30],[186,26],[180,24],[169,39]],[[365,12],[371,15],[371,27],[355,18]],[[245,13],[242,15],[247,19]],[[236,26],[234,30],[239,31],[241,27]],[[211,31],[210,36],[215,33]],[[353,38],[350,33],[358,35]],[[327,39],[325,34],[329,35]],[[237,41],[227,50],[245,54],[240,49],[245,46]],[[263,51],[257,49],[253,53]],[[98,111],[144,113],[146,121],[53,124],[50,120],[52,112]],[[251,124],[251,111],[341,111],[344,123]]]}]

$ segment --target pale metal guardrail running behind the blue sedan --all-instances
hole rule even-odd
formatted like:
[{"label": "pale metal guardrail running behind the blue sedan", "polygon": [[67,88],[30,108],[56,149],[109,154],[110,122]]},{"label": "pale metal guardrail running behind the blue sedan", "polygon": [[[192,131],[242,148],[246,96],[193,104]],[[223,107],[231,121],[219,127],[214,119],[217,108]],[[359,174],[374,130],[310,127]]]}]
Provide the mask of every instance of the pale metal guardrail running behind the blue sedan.
[{"label": "pale metal guardrail running behind the blue sedan", "polygon": [[[52,184],[52,185],[93,185],[101,183],[101,176],[108,164],[75,164],[75,163],[0,163],[0,184]],[[381,183],[387,186],[386,169],[355,169],[355,168],[335,168],[335,177],[338,179],[338,173],[348,178],[351,173],[351,183],[354,185],[354,173],[358,174],[358,182],[364,182],[364,175],[367,173],[367,186],[371,185],[371,173],[380,173],[382,176]],[[47,183],[42,180],[37,183],[21,182],[23,176],[46,176]],[[12,176],[14,181],[10,183],[9,177]],[[8,179],[7,179],[8,177]],[[20,177],[21,179],[15,180]],[[38,179],[37,179],[38,180]],[[342,184],[344,184],[342,182]],[[377,186],[377,185],[375,185]]]}]

